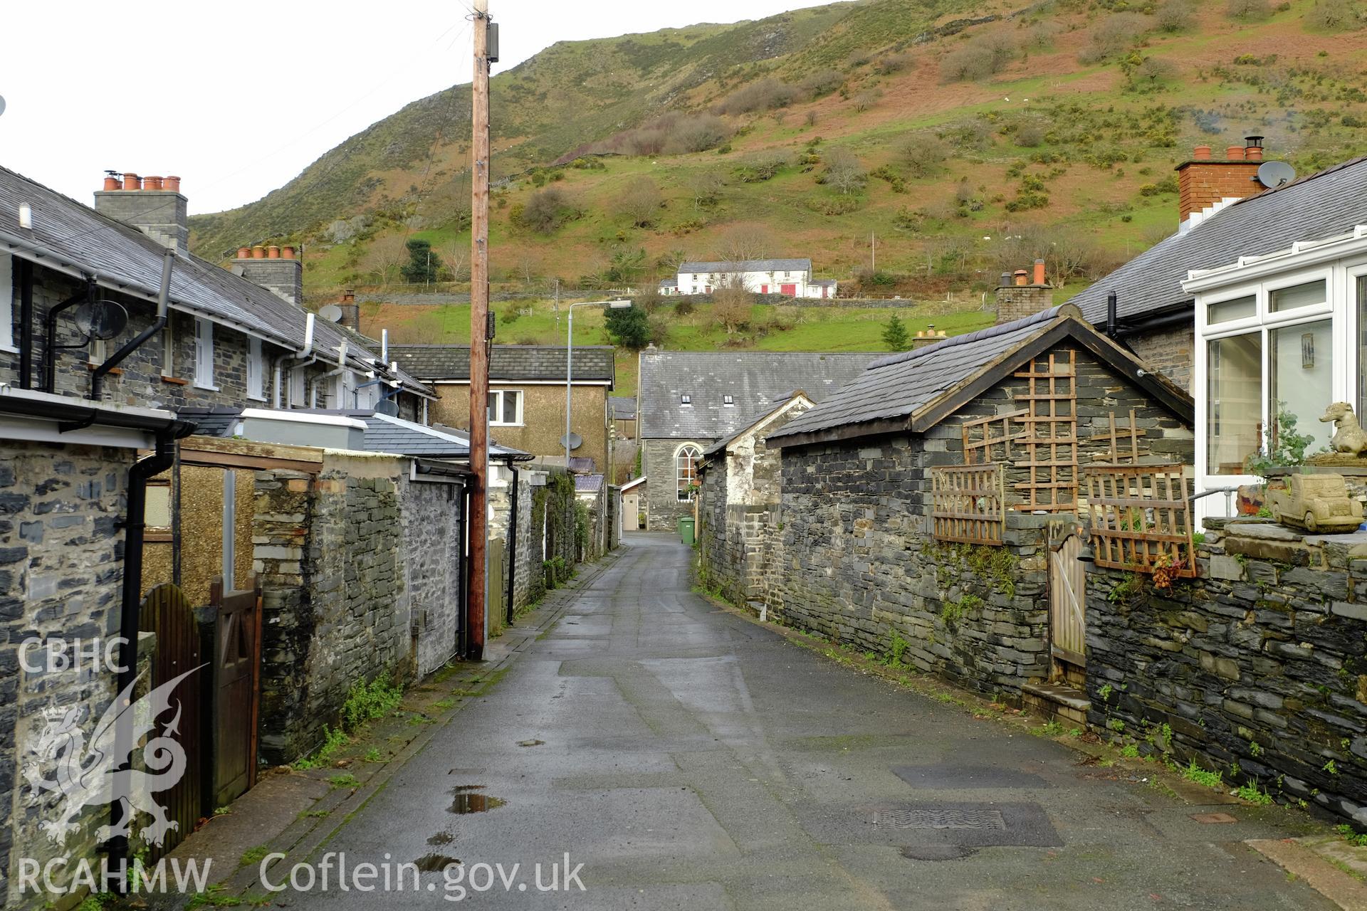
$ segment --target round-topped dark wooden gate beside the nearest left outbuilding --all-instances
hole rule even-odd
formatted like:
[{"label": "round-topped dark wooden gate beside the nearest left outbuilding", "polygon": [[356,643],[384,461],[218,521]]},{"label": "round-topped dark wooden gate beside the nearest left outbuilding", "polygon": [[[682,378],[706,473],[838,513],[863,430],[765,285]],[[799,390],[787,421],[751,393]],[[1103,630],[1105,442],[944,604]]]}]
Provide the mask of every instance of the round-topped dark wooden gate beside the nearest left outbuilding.
[{"label": "round-topped dark wooden gate beside the nearest left outbuilding", "polygon": [[[208,660],[200,638],[200,624],[194,608],[186,600],[179,586],[159,585],[142,598],[138,628],[154,632],[156,650],[152,654],[150,688],[156,688],[186,671],[201,668]],[[165,833],[160,845],[149,845],[149,862],[156,862],[170,854],[186,836],[194,832],[204,810],[204,705],[208,669],[191,673],[171,694],[172,705],[179,703],[180,721],[176,728],[176,742],[185,748],[185,774],[175,787],[159,791],[153,799],[160,803],[167,818],[178,826]]]}]

